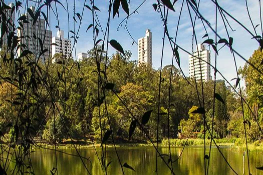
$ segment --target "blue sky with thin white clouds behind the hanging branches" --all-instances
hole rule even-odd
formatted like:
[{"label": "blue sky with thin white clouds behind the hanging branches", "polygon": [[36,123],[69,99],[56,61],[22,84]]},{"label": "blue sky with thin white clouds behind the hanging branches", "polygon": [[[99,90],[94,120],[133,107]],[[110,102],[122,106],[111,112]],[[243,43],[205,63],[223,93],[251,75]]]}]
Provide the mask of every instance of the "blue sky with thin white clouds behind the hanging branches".
[{"label": "blue sky with thin white clouds behind the hanging branches", "polygon": [[[130,13],[134,11],[142,2],[143,0],[130,0]],[[173,38],[175,37],[176,33],[176,27],[178,23],[178,16],[180,13],[180,8],[182,5],[183,0],[178,0],[174,4],[175,11],[169,11],[168,16],[168,29],[169,34]],[[67,8],[67,1],[66,0],[60,0],[60,2]],[[100,9],[100,11],[97,11],[98,18],[100,20],[100,23],[102,25],[103,30],[106,28],[107,19],[108,19],[108,3],[109,0],[95,0],[95,5]],[[127,20],[127,27],[132,35],[132,37],[137,41],[138,38],[143,37],[145,35],[146,29],[151,29],[152,32],[152,64],[154,69],[160,68],[161,65],[161,53],[162,53],[162,37],[163,37],[163,23],[160,19],[160,13],[154,10],[152,4],[156,3],[156,0],[146,0],[140,8],[138,8],[136,13],[133,13],[130,15],[130,17]],[[90,0],[75,0],[75,13],[82,13],[84,4],[90,5]],[[34,5],[32,2],[29,5]],[[237,20],[239,20],[244,26],[246,26],[252,33],[254,34],[252,25],[250,23],[250,20],[248,18],[248,14],[246,11],[245,6],[245,0],[220,0],[219,5],[223,7],[226,11],[228,11],[232,16],[234,16]],[[25,3],[23,6],[27,6]],[[52,2],[52,7],[55,9],[55,3]],[[60,22],[60,28],[65,31],[65,36],[67,37],[67,32],[69,30],[74,30],[74,0],[68,0],[68,8],[69,8],[69,17],[70,17],[70,23],[68,23],[68,14],[67,11],[62,7],[62,5],[57,4],[58,9],[58,18],[54,14],[51,14],[51,21],[50,21],[50,27],[53,31],[53,36],[57,33],[57,28],[55,27],[58,25],[58,21]],[[260,23],[260,17],[259,17],[259,6],[258,6],[258,0],[249,0],[248,1],[248,9],[250,12],[251,20],[254,25]],[[200,0],[199,5],[199,11],[201,14],[206,18],[211,26],[215,28],[215,5],[213,4],[212,0]],[[192,16],[194,16],[193,11]],[[129,36],[128,32],[126,31],[124,25],[125,22],[122,23],[121,26],[119,26],[120,22],[127,16],[127,14],[124,12],[122,7],[119,8],[119,16],[115,16],[114,19],[112,19],[112,13],[110,17],[110,33],[109,38],[110,39],[116,39],[123,47],[124,50],[131,50],[132,57],[131,60],[137,60],[138,59],[138,53],[137,53],[137,45],[132,45],[132,38]],[[78,23],[75,22],[75,29],[79,27],[79,19],[77,15],[75,15]],[[93,47],[93,34],[92,30],[88,30],[86,32],[87,27],[92,23],[92,15],[91,11],[88,8],[84,8],[83,13],[83,20],[80,26],[79,30],[79,39],[76,43],[76,53],[79,52],[87,52]],[[217,16],[217,31],[218,34],[222,38],[228,38],[226,31],[224,29],[223,22],[221,20],[221,16],[218,13]],[[245,31],[237,22],[232,20],[229,16],[226,16],[229,24],[234,29],[234,31],[231,31],[231,29],[228,27],[229,35],[233,37],[233,48],[240,53],[244,58],[248,59],[249,56],[252,55],[253,51],[258,48],[258,42],[255,39],[251,39],[251,35]],[[57,20],[59,19],[59,20]],[[119,28],[118,28],[119,26]],[[206,26],[208,35],[210,38],[215,40],[215,34],[212,32],[211,29],[209,29]],[[118,29],[118,30],[117,30]],[[200,19],[196,20],[196,26],[195,26],[195,32],[197,37],[197,42],[201,43],[206,38],[202,38],[202,36],[206,33],[205,29],[201,23]],[[257,34],[261,35],[261,28],[258,26],[256,28]],[[185,48],[189,52],[192,51],[192,25],[191,20],[187,8],[186,2],[184,2],[183,8],[182,8],[182,14],[181,14],[181,20],[178,27],[178,36],[176,43],[180,45],[181,47]],[[72,34],[70,33],[69,37]],[[102,32],[99,32],[98,38],[102,38]],[[217,38],[218,40],[218,38]],[[228,40],[228,39],[227,39]],[[163,54],[163,62],[162,66],[171,64],[172,62],[172,49],[170,47],[170,44],[165,38],[165,44],[164,44],[164,54]],[[206,45],[207,47],[207,45]],[[207,47],[209,49],[209,47]],[[194,42],[194,50],[196,49],[196,45]],[[212,48],[211,50],[211,64],[215,64],[215,54]],[[111,46],[109,46],[109,55],[114,53],[115,50]],[[73,51],[73,56],[75,54],[75,49]],[[180,62],[182,70],[184,71],[185,75],[188,76],[188,54],[183,52],[179,49],[180,54]],[[230,50],[227,46],[224,46],[222,49],[219,50],[217,56],[217,69],[226,77],[228,81],[230,81],[232,78],[236,77],[236,70],[234,66],[234,60],[233,56],[230,53]],[[75,56],[74,56],[75,57]],[[236,64],[237,67],[242,67],[244,65],[244,61],[239,57],[236,56]],[[178,67],[178,65],[175,65]],[[211,69],[211,75],[213,76],[214,70]],[[222,79],[221,76],[218,74],[216,75],[216,79]],[[231,84],[235,84],[234,81],[231,81]],[[242,82],[243,84],[243,82]]]}]

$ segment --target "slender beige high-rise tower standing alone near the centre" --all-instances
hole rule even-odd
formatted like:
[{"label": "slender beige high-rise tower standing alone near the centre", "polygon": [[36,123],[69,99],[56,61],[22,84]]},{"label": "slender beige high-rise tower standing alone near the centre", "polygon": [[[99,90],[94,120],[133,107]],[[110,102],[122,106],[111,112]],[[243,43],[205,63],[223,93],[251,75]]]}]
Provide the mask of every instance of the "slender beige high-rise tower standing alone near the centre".
[{"label": "slender beige high-rise tower standing alone near the centre", "polygon": [[138,39],[138,63],[152,67],[152,32],[146,29],[144,37]]}]

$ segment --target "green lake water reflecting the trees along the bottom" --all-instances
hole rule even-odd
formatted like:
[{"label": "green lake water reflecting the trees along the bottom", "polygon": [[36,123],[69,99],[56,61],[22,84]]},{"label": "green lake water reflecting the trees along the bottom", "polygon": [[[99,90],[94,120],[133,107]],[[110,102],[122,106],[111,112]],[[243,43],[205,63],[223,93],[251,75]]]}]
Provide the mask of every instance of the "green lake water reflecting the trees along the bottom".
[{"label": "green lake water reflecting the trees along the bottom", "polygon": [[[59,149],[70,154],[76,154],[75,149]],[[117,148],[121,162],[127,162],[135,172],[125,168],[125,174],[156,174],[155,157],[156,152],[152,147],[124,147]],[[101,155],[101,149],[97,149]],[[168,148],[160,148],[162,153],[168,154]],[[173,158],[178,157],[182,147],[172,148]],[[180,159],[173,163],[175,174],[204,174],[203,147],[188,146],[184,149]],[[224,156],[238,174],[243,174],[243,155],[242,152],[231,148],[221,148]],[[208,152],[208,151],[207,151]],[[89,157],[92,164],[84,160],[91,174],[105,174],[102,171],[97,155],[93,148],[80,149],[82,156]],[[249,152],[251,173],[263,174],[263,171],[257,170],[255,166],[263,166],[262,152]],[[116,157],[114,148],[107,148],[108,162],[112,161],[108,167],[107,174],[121,174],[121,168]],[[168,157],[166,158],[167,161]],[[56,166],[56,154],[52,150],[36,149],[32,153],[32,162],[36,174],[51,174],[50,170]],[[57,152],[57,164],[59,174],[88,174],[79,157]],[[245,159],[245,174],[247,173],[247,160]],[[159,158],[158,174],[171,174],[168,167]],[[228,167],[217,148],[211,150],[211,159],[209,165],[209,174],[234,174]]]}]

